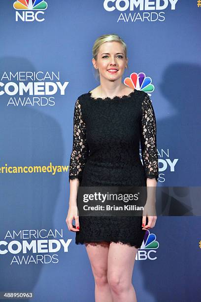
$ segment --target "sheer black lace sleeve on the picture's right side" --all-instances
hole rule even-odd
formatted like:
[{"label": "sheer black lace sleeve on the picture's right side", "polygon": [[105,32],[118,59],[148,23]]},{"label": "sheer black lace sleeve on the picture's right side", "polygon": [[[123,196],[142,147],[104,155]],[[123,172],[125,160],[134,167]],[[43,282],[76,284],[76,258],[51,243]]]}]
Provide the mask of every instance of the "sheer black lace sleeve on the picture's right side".
[{"label": "sheer black lace sleeve on the picture's right side", "polygon": [[142,101],[140,145],[146,179],[158,182],[158,152],[156,142],[156,117],[148,94]]}]

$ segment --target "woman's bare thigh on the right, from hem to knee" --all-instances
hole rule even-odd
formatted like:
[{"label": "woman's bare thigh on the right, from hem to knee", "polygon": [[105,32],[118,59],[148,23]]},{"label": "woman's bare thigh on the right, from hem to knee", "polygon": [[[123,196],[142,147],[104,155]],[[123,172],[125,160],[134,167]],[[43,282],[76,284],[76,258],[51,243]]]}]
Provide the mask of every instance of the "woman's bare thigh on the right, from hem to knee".
[{"label": "woman's bare thigh on the right, from hem to knee", "polygon": [[138,249],[127,244],[111,242],[108,251],[108,281],[111,285],[132,282],[134,261]]}]

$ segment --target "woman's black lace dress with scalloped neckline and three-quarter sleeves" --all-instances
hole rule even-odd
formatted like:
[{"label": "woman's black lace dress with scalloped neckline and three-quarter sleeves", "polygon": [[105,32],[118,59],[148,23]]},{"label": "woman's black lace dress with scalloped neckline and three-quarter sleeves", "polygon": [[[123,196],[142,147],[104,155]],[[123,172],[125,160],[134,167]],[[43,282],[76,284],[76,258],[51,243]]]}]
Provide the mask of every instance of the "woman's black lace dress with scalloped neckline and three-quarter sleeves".
[{"label": "woman's black lace dress with scalloped neckline and three-quarter sleeves", "polygon": [[[69,181],[78,179],[83,187],[146,186],[147,178],[158,182],[156,118],[147,93],[135,89],[104,99],[82,94],[73,126]],[[76,244],[107,241],[140,248],[145,235],[140,216],[79,216],[79,225]]]}]

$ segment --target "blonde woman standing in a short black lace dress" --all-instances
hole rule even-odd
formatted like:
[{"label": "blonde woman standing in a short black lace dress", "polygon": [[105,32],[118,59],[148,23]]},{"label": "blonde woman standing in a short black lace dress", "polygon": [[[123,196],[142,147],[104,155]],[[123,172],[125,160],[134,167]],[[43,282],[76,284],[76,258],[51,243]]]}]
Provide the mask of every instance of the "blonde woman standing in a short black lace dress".
[{"label": "blonde woman standing in a short black lace dress", "polygon": [[119,36],[98,38],[92,63],[100,86],[79,96],[75,103],[66,222],[68,229],[76,232],[75,243],[86,246],[96,302],[134,302],[135,256],[145,231],[155,226],[157,217],[147,217],[145,210],[143,216],[134,217],[78,217],[76,198],[79,186],[156,188],[156,119],[148,94],[122,83],[128,58],[126,44]]}]

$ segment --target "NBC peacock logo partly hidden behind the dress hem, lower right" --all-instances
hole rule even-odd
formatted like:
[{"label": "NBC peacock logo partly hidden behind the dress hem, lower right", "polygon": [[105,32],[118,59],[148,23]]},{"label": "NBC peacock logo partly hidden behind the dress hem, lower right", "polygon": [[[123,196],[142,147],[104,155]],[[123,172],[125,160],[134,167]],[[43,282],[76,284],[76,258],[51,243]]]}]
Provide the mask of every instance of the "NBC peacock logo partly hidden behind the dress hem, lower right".
[{"label": "NBC peacock logo partly hidden behind the dress hem, lower right", "polygon": [[144,240],[140,249],[138,250],[135,260],[156,260],[157,257],[153,257],[152,254],[156,254],[156,249],[159,247],[159,242],[156,241],[156,235],[150,234],[147,229],[144,235]]}]

